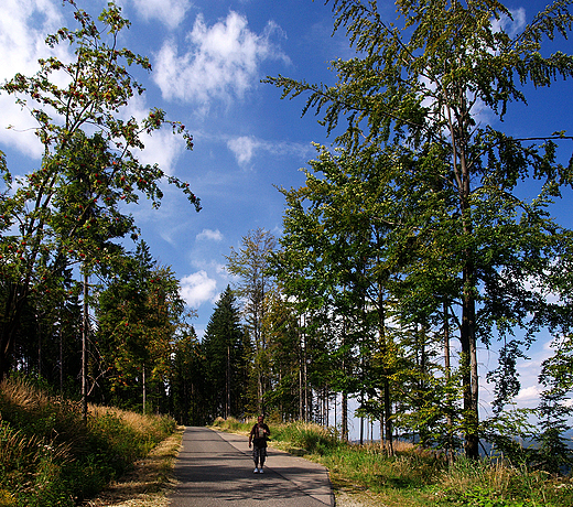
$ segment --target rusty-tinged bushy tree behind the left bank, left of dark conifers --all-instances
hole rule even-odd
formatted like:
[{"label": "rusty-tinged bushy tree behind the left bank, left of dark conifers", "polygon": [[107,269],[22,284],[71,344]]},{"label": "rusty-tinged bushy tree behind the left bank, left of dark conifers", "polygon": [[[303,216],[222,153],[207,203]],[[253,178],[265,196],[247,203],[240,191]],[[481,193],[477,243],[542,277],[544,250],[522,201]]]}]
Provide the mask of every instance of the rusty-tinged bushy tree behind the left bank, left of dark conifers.
[{"label": "rusty-tinged bushy tree behind the left bank, left of dark conifers", "polygon": [[132,403],[140,399],[139,391],[145,411],[153,385],[160,391],[155,406],[164,398],[172,348],[184,317],[179,290],[171,269],[156,266],[149,247],[140,242],[123,271],[98,294],[98,354],[118,402]]}]

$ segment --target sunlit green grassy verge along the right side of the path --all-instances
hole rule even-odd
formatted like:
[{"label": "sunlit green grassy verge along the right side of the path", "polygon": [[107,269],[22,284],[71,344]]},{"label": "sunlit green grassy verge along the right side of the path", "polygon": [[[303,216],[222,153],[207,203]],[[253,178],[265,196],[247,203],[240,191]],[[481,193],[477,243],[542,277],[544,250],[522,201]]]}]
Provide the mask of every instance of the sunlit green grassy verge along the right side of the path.
[{"label": "sunlit green grassy verge along the right side of the path", "polygon": [[[248,433],[252,421],[218,419],[214,427]],[[335,490],[364,505],[386,507],[573,507],[573,481],[510,463],[471,462],[453,466],[433,452],[397,444],[388,457],[380,445],[343,444],[314,424],[270,424],[271,444],[325,465]],[[342,504],[342,501],[340,501]],[[356,505],[356,503],[354,504]]]}]

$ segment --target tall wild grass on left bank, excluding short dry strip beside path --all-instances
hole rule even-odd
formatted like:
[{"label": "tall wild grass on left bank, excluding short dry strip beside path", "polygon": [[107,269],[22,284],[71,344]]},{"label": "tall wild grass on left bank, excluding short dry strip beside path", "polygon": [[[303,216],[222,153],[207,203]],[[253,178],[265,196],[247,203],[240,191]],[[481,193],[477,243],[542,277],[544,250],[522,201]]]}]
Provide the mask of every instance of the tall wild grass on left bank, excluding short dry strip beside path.
[{"label": "tall wild grass on left bank, excluding short dry strip beside path", "polygon": [[71,507],[125,473],[175,428],[167,418],[89,407],[24,380],[0,385],[0,507]]}]

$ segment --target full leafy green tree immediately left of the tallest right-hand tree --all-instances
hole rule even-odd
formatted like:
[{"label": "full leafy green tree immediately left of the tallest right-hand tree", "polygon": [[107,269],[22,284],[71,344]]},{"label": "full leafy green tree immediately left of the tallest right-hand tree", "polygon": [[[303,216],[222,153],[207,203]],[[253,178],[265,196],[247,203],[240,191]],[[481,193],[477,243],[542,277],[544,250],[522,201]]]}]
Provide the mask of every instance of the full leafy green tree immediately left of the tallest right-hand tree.
[{"label": "full leafy green tree immediately left of the tallest right-hand tree", "polygon": [[[387,184],[401,177],[390,154],[365,151],[355,157],[320,148],[305,186],[284,192],[288,211],[277,277],[301,309],[316,301],[327,322],[342,324],[342,332],[333,333],[332,325],[326,332],[339,337],[327,347],[334,352],[331,365],[336,358],[334,364],[346,373],[334,374],[331,367],[329,382],[343,395],[358,393],[361,416],[381,420],[391,453],[400,345],[387,320],[408,249],[403,226],[418,209],[397,197],[402,186]],[[300,256],[305,258],[302,270],[293,265]]]}]

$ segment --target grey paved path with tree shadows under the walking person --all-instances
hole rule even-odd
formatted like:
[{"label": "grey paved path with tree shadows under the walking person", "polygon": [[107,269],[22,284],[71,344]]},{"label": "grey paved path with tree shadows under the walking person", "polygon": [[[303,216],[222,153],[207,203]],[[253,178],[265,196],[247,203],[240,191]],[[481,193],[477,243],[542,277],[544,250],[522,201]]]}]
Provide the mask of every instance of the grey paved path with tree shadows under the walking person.
[{"label": "grey paved path with tree shadows under the walking person", "polygon": [[246,436],[186,428],[170,507],[334,506],[326,468],[274,449],[268,451],[264,474],[253,474]]}]

